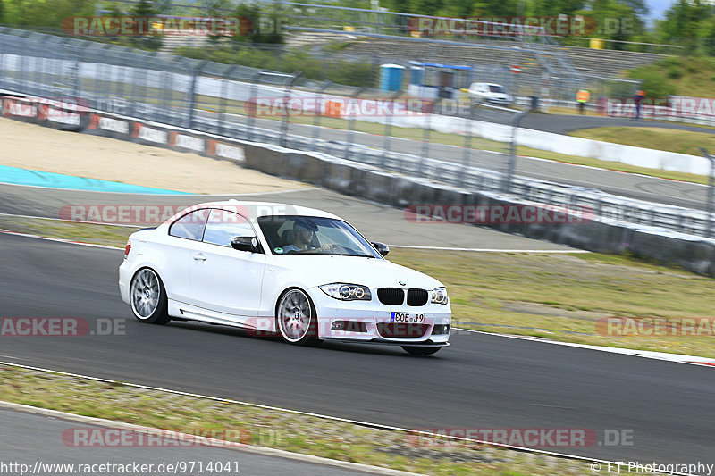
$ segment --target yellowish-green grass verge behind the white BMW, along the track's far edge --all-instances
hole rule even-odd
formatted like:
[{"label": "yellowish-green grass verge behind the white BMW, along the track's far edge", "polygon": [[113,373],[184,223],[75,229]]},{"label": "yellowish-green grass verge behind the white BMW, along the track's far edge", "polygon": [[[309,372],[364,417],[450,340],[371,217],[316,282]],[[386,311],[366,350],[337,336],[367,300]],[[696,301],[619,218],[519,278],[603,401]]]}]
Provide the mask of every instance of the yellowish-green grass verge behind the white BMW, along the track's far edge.
[{"label": "yellowish-green grass verge behind the white BMW, along the track's far edge", "polygon": [[[0,228],[123,247],[132,229],[0,217]],[[620,255],[521,255],[396,248],[391,261],[449,289],[456,326],[715,358],[713,336],[608,336],[608,317],[711,317],[715,280]]]}]

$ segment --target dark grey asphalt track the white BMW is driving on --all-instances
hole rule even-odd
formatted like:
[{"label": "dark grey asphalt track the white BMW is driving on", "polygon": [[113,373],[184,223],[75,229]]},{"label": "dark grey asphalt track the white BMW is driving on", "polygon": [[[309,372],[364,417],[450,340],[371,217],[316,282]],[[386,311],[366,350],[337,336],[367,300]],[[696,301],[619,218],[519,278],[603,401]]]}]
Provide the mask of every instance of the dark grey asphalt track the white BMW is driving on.
[{"label": "dark grey asphalt track the white BMW is driving on", "polygon": [[[3,338],[0,359],[405,428],[632,430],[561,453],[712,463],[712,369],[484,334],[430,358],[293,347],[200,323],[143,324],[117,293],[122,251],[0,235],[2,317],[126,319],[126,335]],[[458,316],[456,316],[458,317]]]}]

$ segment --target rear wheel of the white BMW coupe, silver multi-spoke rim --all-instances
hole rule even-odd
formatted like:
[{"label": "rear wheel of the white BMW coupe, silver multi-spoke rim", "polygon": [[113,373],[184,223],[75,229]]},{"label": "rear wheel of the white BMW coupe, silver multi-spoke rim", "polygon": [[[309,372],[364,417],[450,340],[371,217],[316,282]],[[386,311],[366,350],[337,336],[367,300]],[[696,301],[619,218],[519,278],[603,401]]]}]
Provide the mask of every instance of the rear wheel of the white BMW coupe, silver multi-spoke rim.
[{"label": "rear wheel of the white BMW coupe, silver multi-spoke rim", "polygon": [[164,284],[151,268],[143,268],[131,279],[129,288],[131,311],[141,322],[165,324],[169,316]]}]

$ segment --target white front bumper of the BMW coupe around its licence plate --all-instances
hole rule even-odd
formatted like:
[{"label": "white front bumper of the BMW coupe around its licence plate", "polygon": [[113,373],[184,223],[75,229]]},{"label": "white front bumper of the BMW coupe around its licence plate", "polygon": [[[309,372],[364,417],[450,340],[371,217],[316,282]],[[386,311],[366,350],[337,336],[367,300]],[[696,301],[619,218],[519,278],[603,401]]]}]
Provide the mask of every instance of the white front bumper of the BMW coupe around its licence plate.
[{"label": "white front bumper of the BMW coupe around its licence plate", "polygon": [[[325,295],[319,288],[311,288],[308,293],[318,316],[319,338],[403,346],[449,345],[449,304],[383,305],[375,296],[376,293],[373,293],[371,301],[341,301]],[[424,313],[425,321],[421,324],[394,323],[391,322],[393,312]],[[339,322],[349,322],[351,330],[334,329],[334,325]]]}]

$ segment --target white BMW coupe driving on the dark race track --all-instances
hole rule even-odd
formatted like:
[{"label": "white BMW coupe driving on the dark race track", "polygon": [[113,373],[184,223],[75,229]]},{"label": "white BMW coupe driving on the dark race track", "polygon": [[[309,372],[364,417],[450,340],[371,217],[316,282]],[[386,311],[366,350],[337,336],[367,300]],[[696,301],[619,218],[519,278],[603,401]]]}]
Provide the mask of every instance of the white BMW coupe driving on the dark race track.
[{"label": "white BMW coupe driving on the dark race track", "polygon": [[441,282],[383,258],[332,213],[262,202],[193,205],[132,233],[119,268],[122,300],[142,322],[190,320],[321,340],[449,346]]}]

